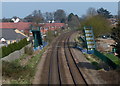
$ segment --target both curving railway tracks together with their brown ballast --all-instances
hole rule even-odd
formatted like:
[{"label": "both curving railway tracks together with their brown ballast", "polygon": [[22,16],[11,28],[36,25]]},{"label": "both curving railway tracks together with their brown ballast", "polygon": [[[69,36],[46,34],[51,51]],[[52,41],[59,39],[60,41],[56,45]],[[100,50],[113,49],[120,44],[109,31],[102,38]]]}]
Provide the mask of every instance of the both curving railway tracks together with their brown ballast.
[{"label": "both curving railway tracks together with their brown ballast", "polygon": [[74,85],[87,85],[87,82],[77,67],[77,64],[70,50],[69,37],[73,32],[74,31],[62,34],[52,43],[52,46],[47,53],[45,68],[43,69],[43,78],[41,80],[42,84],[67,84],[67,79],[64,72],[65,69],[63,68],[64,65],[61,58],[61,48],[64,47],[65,59]]}]

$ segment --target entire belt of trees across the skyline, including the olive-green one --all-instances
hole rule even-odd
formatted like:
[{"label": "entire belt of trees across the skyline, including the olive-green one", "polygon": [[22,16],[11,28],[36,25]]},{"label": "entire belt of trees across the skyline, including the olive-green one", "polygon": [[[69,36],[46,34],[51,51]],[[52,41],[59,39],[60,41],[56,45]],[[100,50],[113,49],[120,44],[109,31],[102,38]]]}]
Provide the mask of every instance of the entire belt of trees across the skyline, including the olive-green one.
[{"label": "entire belt of trees across the skyline, including the olive-green one", "polygon": [[[120,11],[119,11],[120,14]],[[34,10],[31,14],[22,18],[24,22],[36,22],[36,23],[51,23],[53,20],[57,23],[66,23],[70,28],[83,29],[84,26],[92,26],[95,38],[100,35],[110,34],[116,41],[115,47],[120,55],[120,22],[117,27],[112,28],[110,26],[109,18],[117,18],[119,15],[113,16],[111,12],[104,8],[88,8],[85,15],[79,17],[74,13],[67,14],[63,9],[58,9],[55,12],[42,13],[40,10]],[[14,16],[13,18],[17,18]],[[120,17],[119,17],[120,20]],[[13,22],[11,18],[3,18],[2,22]],[[119,56],[120,57],[120,56]]]}]

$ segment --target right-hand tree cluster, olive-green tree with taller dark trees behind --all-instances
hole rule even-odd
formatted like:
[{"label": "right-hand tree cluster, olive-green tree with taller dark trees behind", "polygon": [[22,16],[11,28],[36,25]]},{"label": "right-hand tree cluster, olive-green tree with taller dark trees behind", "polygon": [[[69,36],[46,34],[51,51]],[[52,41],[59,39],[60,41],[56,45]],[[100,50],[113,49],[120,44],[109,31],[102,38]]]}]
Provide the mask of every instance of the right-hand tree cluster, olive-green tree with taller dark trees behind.
[{"label": "right-hand tree cluster, olive-green tree with taller dark trees behind", "polygon": [[[114,48],[118,54],[117,56],[120,58],[120,11],[118,10],[118,12],[118,15],[113,16],[106,9],[100,8],[95,10],[94,8],[89,8],[87,14],[82,17],[81,27],[92,26],[95,38],[109,34],[115,41]],[[111,27],[108,21],[109,18],[117,19],[118,24],[116,27]]]}]

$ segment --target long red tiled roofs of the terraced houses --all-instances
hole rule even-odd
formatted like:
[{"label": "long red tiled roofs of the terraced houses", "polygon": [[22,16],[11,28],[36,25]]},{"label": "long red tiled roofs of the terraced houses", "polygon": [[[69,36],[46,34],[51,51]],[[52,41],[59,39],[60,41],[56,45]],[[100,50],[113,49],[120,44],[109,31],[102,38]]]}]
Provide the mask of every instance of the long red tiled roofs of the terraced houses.
[{"label": "long red tiled roofs of the terraced houses", "polygon": [[[33,23],[32,22],[18,22],[18,23],[2,22],[0,23],[0,28],[17,28],[18,30],[26,30],[26,29],[30,29],[31,24]],[[64,23],[45,23],[45,24],[39,24],[39,25],[42,26],[43,28],[49,27],[50,30],[55,30],[58,27],[63,27]]]}]

